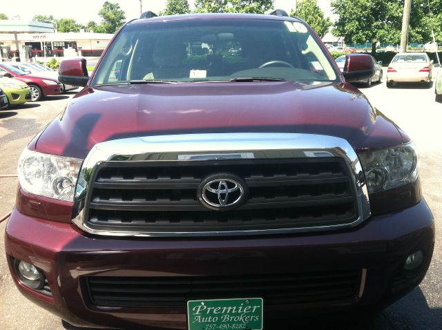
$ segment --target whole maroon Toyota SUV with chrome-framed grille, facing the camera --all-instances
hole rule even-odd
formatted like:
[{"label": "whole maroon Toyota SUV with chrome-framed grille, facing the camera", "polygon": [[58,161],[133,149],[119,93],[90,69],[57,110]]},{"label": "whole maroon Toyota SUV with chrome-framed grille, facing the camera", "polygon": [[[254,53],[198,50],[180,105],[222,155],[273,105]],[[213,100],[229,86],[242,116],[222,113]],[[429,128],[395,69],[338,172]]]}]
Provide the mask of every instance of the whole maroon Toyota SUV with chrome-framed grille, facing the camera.
[{"label": "whole maroon Toyota SUV with chrome-framed grille, facing the camera", "polygon": [[[240,49],[240,52],[231,52]],[[382,308],[430,264],[414,144],[300,19],[127,23],[19,160],[19,290],[78,327],[262,329]]]}]

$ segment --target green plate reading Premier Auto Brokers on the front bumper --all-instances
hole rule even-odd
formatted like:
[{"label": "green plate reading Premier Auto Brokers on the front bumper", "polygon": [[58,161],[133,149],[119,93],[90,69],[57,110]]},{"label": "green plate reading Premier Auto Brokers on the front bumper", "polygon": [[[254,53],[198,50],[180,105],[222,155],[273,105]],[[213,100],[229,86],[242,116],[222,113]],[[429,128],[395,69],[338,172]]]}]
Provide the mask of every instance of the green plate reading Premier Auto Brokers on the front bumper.
[{"label": "green plate reading Premier Auto Brokers on the front bumper", "polygon": [[262,330],[262,298],[229,298],[187,301],[188,330]]}]

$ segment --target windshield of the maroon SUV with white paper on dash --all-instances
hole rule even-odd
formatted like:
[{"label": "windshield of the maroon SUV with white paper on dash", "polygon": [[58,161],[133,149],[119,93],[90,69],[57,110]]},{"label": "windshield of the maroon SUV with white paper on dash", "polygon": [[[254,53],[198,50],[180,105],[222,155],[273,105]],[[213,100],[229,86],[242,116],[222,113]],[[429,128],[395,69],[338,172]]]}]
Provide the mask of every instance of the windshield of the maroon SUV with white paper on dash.
[{"label": "windshield of the maroon SUV with white paper on dash", "polygon": [[236,78],[336,81],[338,75],[300,22],[198,19],[126,26],[93,84],[245,81]]}]

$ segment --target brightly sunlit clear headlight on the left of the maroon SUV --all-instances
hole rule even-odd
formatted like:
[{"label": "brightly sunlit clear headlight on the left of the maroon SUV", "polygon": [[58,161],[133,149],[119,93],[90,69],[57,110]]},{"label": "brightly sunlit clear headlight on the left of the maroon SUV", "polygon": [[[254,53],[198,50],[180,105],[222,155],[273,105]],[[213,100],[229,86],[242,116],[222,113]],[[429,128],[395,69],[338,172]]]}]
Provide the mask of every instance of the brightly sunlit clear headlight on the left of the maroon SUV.
[{"label": "brightly sunlit clear headlight on the left of the maroon SUV", "polygon": [[73,202],[82,162],[26,148],[19,159],[20,186],[28,193]]}]

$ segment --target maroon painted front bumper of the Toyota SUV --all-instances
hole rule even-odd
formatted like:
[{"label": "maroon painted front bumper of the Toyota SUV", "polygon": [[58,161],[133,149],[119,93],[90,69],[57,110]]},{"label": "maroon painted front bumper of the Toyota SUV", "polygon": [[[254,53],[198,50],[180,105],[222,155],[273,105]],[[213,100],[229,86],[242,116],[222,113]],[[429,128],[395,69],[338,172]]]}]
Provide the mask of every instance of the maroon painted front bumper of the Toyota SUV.
[{"label": "maroon painted front bumper of the Toyota SUV", "polygon": [[[99,237],[72,224],[36,219],[13,211],[6,227],[6,253],[20,291],[41,307],[77,326],[186,329],[186,309],[99,307],[92,304],[84,276],[272,275],[300,271],[366,269],[363,292],[351,302],[265,307],[265,320],[296,318],[339,309],[381,307],[421,282],[434,246],[434,221],[422,200],[403,211],[372,217],[354,229],[242,238]],[[424,262],[401,277],[407,255],[422,250]],[[44,271],[52,297],[23,286],[11,259]],[[247,297],[246,297],[247,298]]]}]

